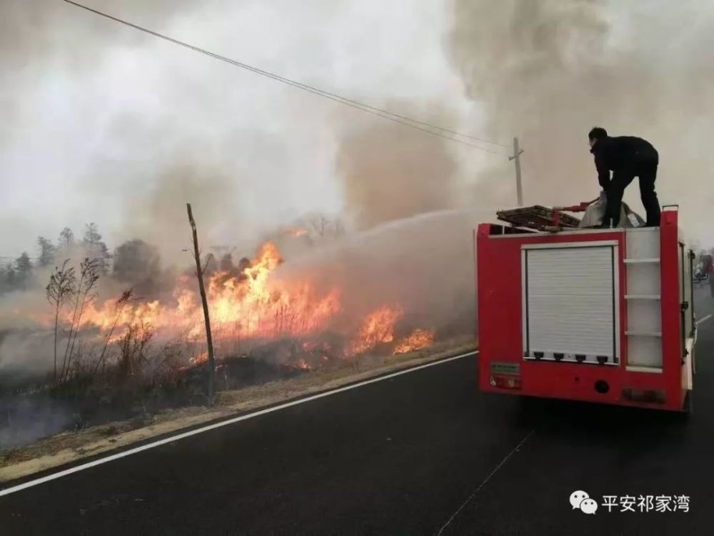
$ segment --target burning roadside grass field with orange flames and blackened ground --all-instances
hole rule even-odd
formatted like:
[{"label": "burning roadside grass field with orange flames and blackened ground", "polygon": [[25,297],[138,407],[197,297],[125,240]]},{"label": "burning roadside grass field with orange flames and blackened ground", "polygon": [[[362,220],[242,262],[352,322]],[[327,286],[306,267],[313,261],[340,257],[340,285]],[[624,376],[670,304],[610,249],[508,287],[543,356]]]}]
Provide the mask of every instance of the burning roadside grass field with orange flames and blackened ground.
[{"label": "burning roadside grass field with orange flames and blackened ground", "polygon": [[[253,259],[209,275],[219,390],[306,374],[318,382],[319,374],[361,371],[374,359],[383,363],[382,356],[428,349],[435,341],[433,329],[410,325],[401,304],[348,311],[342,289],[276,277],[283,262],[276,245],[266,242]],[[98,280],[91,259],[77,274],[67,264],[53,272],[47,287],[51,308],[41,317],[44,328],[33,333],[51,339],[53,374],[12,387],[0,384],[0,413],[7,415],[0,432],[12,439],[23,426],[14,418],[21,404],[59,401],[69,415],[4,448],[111,420],[144,422],[167,408],[206,402],[208,356],[195,279],[179,276],[168,296],[144,299],[126,290],[104,300]]]}]

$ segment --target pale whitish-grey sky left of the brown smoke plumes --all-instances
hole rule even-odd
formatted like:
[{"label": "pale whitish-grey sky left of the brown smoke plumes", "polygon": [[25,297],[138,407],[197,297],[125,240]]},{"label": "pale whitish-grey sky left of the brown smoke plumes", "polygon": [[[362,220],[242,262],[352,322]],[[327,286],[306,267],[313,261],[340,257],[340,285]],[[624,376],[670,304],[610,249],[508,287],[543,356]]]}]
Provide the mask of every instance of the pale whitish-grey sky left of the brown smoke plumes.
[{"label": "pale whitish-grey sky left of the brown smoke plumes", "polygon": [[[47,16],[34,19],[31,11],[48,4]],[[88,4],[354,99],[406,99],[417,113],[436,101],[465,124],[478,119],[446,59],[448,13],[439,0]],[[336,133],[362,112],[60,0],[0,5],[14,25],[44,31],[41,45],[15,50],[0,41],[11,82],[0,104],[12,109],[0,125],[0,228],[12,230],[0,237],[0,255],[34,248],[38,234],[54,239],[65,225],[79,234],[89,221],[116,245],[149,225],[141,220],[152,219],[163,189],[180,211],[185,201],[199,204],[199,224],[213,218],[206,211],[220,213],[214,241],[341,209]],[[191,179],[180,177],[184,167]],[[210,207],[191,194],[205,189],[214,190]]]}]

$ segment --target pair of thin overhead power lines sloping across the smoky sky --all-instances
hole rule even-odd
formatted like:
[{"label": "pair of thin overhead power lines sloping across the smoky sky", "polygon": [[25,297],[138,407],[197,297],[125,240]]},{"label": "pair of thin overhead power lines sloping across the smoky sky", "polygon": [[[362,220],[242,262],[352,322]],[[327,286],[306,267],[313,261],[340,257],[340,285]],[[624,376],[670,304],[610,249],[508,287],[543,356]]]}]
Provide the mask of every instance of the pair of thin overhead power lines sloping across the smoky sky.
[{"label": "pair of thin overhead power lines sloping across the smoky sky", "polygon": [[[236,67],[240,67],[241,69],[246,69],[246,70],[251,71],[255,74],[260,74],[261,76],[266,76],[267,78],[273,79],[275,81],[279,81],[283,84],[288,84],[289,86],[293,86],[298,89],[303,89],[303,91],[308,91],[312,94],[316,94],[316,95],[321,96],[325,99],[330,99],[330,100],[336,101],[340,104],[344,104],[346,106],[351,106],[354,109],[366,111],[368,114],[380,116],[383,119],[388,119],[390,121],[394,121],[396,123],[403,124],[404,126],[410,126],[413,129],[421,130],[423,132],[426,132],[427,134],[431,134],[432,136],[448,139],[448,140],[451,140],[452,142],[457,142],[457,143],[461,143],[464,145],[468,145],[468,147],[473,147],[474,149],[479,149],[481,151],[485,151],[485,152],[489,152],[489,153],[493,153],[493,154],[503,154],[503,152],[498,152],[498,151],[495,151],[490,148],[481,147],[481,145],[467,142],[464,139],[459,139],[459,137],[471,139],[475,142],[490,144],[490,145],[493,145],[496,147],[503,147],[506,149],[509,148],[507,145],[500,144],[498,142],[491,142],[488,139],[479,138],[479,137],[473,136],[471,134],[464,134],[464,133],[456,131],[456,130],[444,128],[443,126],[431,124],[426,121],[420,121],[418,119],[413,119],[413,118],[405,116],[405,115],[396,114],[393,111],[388,111],[385,109],[377,108],[376,106],[364,104],[362,102],[359,102],[359,101],[356,101],[353,99],[348,99],[347,97],[338,95],[336,93],[331,93],[330,91],[326,91],[324,89],[319,89],[316,86],[303,84],[302,82],[286,78],[285,76],[280,76],[279,74],[275,74],[270,71],[265,71],[263,69],[259,69],[258,67],[255,67],[255,66],[252,66],[249,64],[245,64],[241,61],[236,61],[234,59],[227,58],[226,56],[221,56],[220,54],[216,54],[216,53],[208,51],[206,49],[201,49],[200,47],[194,46],[192,44],[188,44],[185,41],[180,41],[179,39],[174,39],[173,37],[169,37],[164,34],[159,34],[159,32],[150,30],[148,28],[144,28],[144,26],[139,26],[138,24],[134,24],[134,23],[131,23],[124,19],[119,19],[116,16],[106,14],[106,13],[104,13],[104,11],[99,11],[98,9],[94,9],[89,6],[84,6],[83,4],[79,4],[72,0],[64,0],[64,1],[67,4],[71,4],[73,6],[79,7],[81,9],[84,9],[84,10],[94,13],[96,15],[103,16],[106,19],[110,19],[112,21],[118,22],[119,24],[124,24],[125,26],[129,26],[136,30],[143,31],[146,34],[158,37],[159,39],[164,39],[164,41],[169,41],[170,43],[186,47],[187,49],[191,49],[191,50],[196,51],[200,54],[205,54],[206,56],[211,56],[213,59],[225,61],[226,63],[234,65]],[[448,135],[448,134],[451,134],[451,135]]]}]

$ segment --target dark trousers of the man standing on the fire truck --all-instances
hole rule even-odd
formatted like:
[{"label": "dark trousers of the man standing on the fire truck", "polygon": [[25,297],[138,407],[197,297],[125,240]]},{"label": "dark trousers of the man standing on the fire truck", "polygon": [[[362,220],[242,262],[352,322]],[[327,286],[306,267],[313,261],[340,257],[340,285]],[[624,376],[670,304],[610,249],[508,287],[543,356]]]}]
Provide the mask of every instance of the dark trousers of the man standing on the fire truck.
[{"label": "dark trousers of the man standing on the fire truck", "polygon": [[622,200],[625,188],[635,177],[640,177],[640,199],[647,212],[647,227],[659,227],[660,224],[660,202],[655,193],[655,179],[657,179],[656,159],[641,162],[629,169],[616,169],[613,172],[613,179],[608,184],[608,208],[605,212],[605,225],[612,223],[612,227],[617,227],[620,223],[620,212],[622,211]]}]

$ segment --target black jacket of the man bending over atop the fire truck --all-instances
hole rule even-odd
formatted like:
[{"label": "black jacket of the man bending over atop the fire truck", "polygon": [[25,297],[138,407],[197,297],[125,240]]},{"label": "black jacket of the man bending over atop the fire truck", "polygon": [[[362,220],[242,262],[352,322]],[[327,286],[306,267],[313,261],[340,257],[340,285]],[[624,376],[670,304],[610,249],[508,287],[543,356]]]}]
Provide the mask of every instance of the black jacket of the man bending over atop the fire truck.
[{"label": "black jacket of the man bending over atop the fire truck", "polygon": [[600,186],[610,183],[610,171],[638,174],[644,165],[657,165],[659,154],[650,142],[634,136],[607,137],[598,140],[590,149],[595,155]]}]

